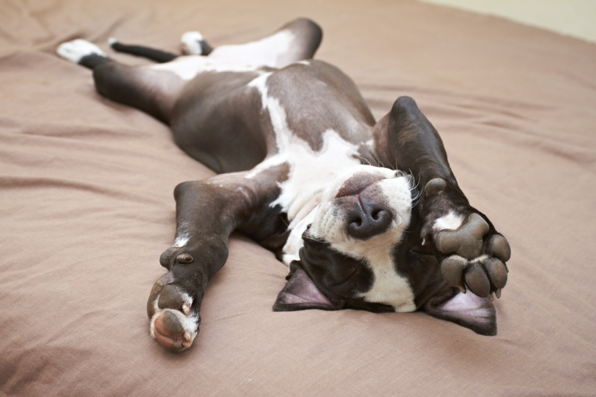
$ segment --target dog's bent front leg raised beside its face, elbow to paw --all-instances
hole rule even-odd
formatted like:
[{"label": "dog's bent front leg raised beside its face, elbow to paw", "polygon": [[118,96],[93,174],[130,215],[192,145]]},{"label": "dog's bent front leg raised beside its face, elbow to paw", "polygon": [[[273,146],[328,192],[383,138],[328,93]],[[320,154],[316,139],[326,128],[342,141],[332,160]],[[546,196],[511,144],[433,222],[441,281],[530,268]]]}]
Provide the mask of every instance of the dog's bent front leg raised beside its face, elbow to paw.
[{"label": "dog's bent front leg raised beside its face, elbow to paw", "polygon": [[373,130],[384,164],[410,171],[423,193],[418,212],[421,239],[431,245],[445,280],[461,292],[493,299],[507,281],[511,252],[491,221],[471,207],[449,167],[443,143],[411,98],[398,98]]}]

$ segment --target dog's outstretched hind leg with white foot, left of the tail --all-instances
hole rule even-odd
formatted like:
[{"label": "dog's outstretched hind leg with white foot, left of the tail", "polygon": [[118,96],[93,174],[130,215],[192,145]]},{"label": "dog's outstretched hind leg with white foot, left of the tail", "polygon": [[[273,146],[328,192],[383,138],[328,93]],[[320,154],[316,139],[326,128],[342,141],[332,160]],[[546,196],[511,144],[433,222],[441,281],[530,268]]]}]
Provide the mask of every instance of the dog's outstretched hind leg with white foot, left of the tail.
[{"label": "dog's outstretched hind leg with white foot, left of the tail", "polygon": [[101,95],[169,122],[184,79],[168,71],[119,64],[95,44],[81,39],[61,44],[57,52],[67,60],[90,68],[95,88]]}]

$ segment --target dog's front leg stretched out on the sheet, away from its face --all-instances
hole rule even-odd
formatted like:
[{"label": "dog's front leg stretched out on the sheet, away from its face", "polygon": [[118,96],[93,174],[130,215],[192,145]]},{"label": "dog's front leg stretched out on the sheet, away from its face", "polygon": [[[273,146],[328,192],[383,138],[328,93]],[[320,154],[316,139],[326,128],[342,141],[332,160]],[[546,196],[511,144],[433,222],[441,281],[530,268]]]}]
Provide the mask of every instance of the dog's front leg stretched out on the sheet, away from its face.
[{"label": "dog's front leg stretched out on the sheet, away from its face", "polygon": [[176,187],[176,238],[160,257],[168,272],[147,302],[151,336],[164,348],[181,351],[193,343],[205,287],[228,257],[230,233],[238,229],[258,239],[254,233],[262,230],[255,225],[283,226],[280,210],[268,205],[279,194],[275,180],[281,173],[287,168],[278,165]]}]

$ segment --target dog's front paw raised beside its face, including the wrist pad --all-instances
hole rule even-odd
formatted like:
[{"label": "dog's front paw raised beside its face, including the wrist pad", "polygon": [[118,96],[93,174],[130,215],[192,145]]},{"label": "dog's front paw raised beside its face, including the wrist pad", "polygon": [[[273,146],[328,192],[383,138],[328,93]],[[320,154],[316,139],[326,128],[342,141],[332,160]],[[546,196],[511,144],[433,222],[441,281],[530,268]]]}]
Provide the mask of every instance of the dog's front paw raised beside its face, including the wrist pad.
[{"label": "dog's front paw raised beside its face, including the wrist pad", "polygon": [[511,257],[507,239],[467,200],[457,199],[457,192],[449,190],[444,180],[431,180],[425,190],[429,212],[423,238],[434,241],[446,282],[464,293],[470,290],[491,300],[495,293],[500,298]]}]

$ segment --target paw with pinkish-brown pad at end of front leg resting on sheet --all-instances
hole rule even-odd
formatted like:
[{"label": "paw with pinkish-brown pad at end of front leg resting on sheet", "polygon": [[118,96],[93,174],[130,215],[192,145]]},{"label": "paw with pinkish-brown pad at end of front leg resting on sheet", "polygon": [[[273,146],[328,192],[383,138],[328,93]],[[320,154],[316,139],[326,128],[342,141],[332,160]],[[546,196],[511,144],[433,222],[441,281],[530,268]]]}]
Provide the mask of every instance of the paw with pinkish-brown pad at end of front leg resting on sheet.
[{"label": "paw with pinkish-brown pad at end of front leg resting on sheet", "polygon": [[151,337],[163,348],[179,352],[193,344],[201,317],[193,307],[193,298],[173,282],[172,272],[156,281],[147,302],[147,315]]}]

